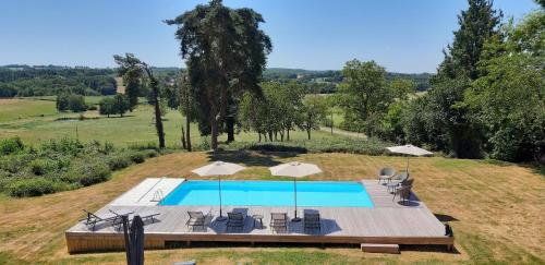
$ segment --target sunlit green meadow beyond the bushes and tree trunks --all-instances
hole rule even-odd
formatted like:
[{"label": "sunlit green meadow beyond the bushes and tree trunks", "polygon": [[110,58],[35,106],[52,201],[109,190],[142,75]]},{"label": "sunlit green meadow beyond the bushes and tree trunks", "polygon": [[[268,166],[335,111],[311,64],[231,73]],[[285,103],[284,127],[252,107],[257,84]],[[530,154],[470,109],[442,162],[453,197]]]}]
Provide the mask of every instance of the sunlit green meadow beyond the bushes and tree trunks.
[{"label": "sunlit green meadow beyond the bushes and tree trunks", "polygon": [[[89,97],[89,103],[98,103],[100,97]],[[43,98],[44,99],[44,98]],[[48,98],[46,98],[48,99]],[[86,97],[87,100],[87,97]],[[41,117],[44,115],[44,117]],[[0,99],[0,138],[20,136],[25,143],[39,143],[50,138],[77,137],[83,142],[99,140],[116,145],[157,143],[157,134],[150,106],[141,105],[123,118],[99,117],[97,111],[87,111],[85,117],[99,117],[93,120],[77,120],[78,113],[58,113],[55,101],[29,99]],[[74,118],[73,120],[57,120]],[[168,146],[180,146],[181,124],[183,117],[175,110],[169,110],[164,125]],[[77,134],[76,134],[77,129]],[[292,140],[306,138],[302,131],[291,132]],[[226,140],[226,135],[220,141]],[[329,138],[332,135],[315,131],[315,138]],[[235,135],[239,141],[257,141],[255,133],[241,132]],[[197,125],[192,127],[194,145],[203,143]]]}]

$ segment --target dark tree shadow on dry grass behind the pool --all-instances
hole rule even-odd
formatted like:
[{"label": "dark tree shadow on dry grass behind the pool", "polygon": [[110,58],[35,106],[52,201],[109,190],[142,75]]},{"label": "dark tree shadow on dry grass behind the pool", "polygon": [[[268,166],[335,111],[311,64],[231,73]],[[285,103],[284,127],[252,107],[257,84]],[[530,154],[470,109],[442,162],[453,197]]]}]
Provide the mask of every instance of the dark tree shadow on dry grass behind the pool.
[{"label": "dark tree shadow on dry grass behind the pool", "polygon": [[246,166],[272,167],[281,164],[276,158],[295,157],[295,153],[256,153],[250,150],[218,150],[209,152],[208,160],[243,164]]}]

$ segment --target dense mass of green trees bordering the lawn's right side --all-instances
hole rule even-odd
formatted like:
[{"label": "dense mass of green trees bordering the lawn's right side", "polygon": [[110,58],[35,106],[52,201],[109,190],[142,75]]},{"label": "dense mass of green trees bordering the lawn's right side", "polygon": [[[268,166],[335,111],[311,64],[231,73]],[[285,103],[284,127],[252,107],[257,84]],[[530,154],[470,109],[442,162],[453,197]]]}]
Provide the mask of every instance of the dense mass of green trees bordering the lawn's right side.
[{"label": "dense mass of green trees bordering the lawn's right side", "polygon": [[452,157],[543,162],[543,3],[514,24],[502,23],[492,1],[468,2],[425,95],[396,92],[413,86],[407,81],[387,89],[374,62],[347,63],[339,86],[343,125]]}]

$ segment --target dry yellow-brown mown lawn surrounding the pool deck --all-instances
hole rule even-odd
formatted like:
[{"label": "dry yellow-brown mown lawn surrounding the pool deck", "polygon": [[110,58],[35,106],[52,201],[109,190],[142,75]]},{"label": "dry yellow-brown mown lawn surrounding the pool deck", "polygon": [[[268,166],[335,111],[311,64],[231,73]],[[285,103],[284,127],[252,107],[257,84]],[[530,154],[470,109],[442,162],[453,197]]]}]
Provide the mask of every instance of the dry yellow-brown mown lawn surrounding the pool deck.
[{"label": "dry yellow-brown mown lawn surrounding the pool deck", "polygon": [[[124,263],[124,253],[69,255],[63,232],[82,218],[82,208],[96,210],[147,177],[196,178],[190,170],[220,158],[252,168],[231,179],[275,179],[266,167],[298,159],[319,165],[312,180],[373,178],[384,165],[404,166],[402,157],[348,154],[256,154],[227,152],[174,153],[116,172],[112,180],[41,197],[0,197],[0,264]],[[190,249],[146,251],[148,264],[196,260],[198,264],[543,264],[545,257],[545,179],[532,168],[485,160],[413,158],[414,190],[456,234],[456,253],[444,249],[404,248],[400,255],[362,253],[346,245],[213,244]],[[183,225],[184,220],[180,220]],[[214,246],[214,248],[210,248]]]}]

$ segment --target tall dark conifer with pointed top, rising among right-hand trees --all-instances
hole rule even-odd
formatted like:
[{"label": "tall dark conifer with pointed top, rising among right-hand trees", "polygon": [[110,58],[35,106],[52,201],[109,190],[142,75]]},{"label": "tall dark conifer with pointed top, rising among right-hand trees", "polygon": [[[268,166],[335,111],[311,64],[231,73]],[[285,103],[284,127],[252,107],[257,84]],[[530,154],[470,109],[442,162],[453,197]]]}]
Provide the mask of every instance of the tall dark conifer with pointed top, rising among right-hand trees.
[{"label": "tall dark conifer with pointed top, rising among right-hand trees", "polygon": [[437,111],[438,119],[434,120],[443,124],[443,135],[435,138],[446,141],[431,144],[444,146],[457,157],[477,158],[482,156],[483,133],[463,103],[464,93],[480,76],[477,62],[483,46],[498,34],[502,14],[493,9],[489,0],[468,0],[468,10],[458,16],[460,28],[453,33],[452,46],[444,51],[445,60],[432,80],[433,89],[426,99],[431,100],[427,106]]}]

